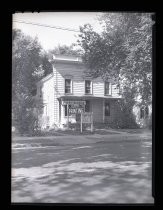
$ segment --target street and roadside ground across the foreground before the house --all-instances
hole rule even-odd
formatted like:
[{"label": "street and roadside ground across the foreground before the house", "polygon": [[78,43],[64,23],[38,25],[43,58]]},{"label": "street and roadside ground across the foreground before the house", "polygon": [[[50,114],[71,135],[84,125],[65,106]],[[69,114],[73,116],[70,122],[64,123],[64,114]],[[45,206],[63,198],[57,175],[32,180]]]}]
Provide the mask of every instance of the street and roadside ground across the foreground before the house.
[{"label": "street and roadside ground across the foreground before the house", "polygon": [[137,140],[108,141],[122,136],[115,131],[15,139],[12,202],[153,203],[151,138],[132,135]]}]

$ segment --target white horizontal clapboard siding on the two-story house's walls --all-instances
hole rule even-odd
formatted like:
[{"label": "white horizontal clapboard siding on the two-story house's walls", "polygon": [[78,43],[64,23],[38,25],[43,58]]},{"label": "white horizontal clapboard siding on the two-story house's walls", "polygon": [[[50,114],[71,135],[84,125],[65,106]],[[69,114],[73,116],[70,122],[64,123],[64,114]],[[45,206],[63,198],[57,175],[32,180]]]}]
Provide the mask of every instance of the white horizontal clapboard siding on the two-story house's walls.
[{"label": "white horizontal clapboard siding on the two-story house's walls", "polygon": [[[64,116],[64,107],[59,108],[58,98],[65,95],[65,78],[72,78],[72,94],[74,96],[85,95],[85,67],[81,64],[63,64],[57,63],[53,65],[53,77],[42,82],[43,100],[47,103],[47,115],[49,116],[50,126],[54,124],[66,123],[67,117]],[[38,86],[39,89],[39,86]],[[104,81],[102,78],[92,80],[92,94],[96,97],[104,97]],[[116,85],[112,85],[112,97],[119,97],[119,90]],[[39,91],[38,91],[39,96]],[[94,113],[94,122],[104,121],[103,99],[91,100],[92,112]],[[44,113],[45,114],[45,113]],[[75,122],[74,117],[70,117],[71,122]]]}]

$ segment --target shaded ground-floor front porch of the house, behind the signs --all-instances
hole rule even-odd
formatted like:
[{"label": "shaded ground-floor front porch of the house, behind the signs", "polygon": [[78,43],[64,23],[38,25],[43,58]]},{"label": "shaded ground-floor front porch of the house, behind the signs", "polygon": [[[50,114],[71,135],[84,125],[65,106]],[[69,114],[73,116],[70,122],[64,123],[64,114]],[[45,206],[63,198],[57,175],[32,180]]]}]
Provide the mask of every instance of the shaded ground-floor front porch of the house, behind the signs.
[{"label": "shaded ground-floor front porch of the house, behind the signs", "polygon": [[[81,112],[92,112],[94,123],[107,123],[111,122],[118,114],[116,101],[119,98],[112,97],[94,97],[94,96],[61,96],[59,101],[59,124],[66,125],[68,122],[77,123],[80,122]],[[76,102],[84,102],[83,106],[78,106],[78,111],[70,112],[70,102],[75,104]]]}]

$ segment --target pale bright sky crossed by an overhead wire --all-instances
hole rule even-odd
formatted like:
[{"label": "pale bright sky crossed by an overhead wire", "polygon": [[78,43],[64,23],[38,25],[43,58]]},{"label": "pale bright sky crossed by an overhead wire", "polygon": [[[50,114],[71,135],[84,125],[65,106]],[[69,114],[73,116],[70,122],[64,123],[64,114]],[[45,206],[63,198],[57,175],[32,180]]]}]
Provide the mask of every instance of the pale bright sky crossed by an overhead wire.
[{"label": "pale bright sky crossed by an overhead wire", "polygon": [[101,12],[40,12],[40,13],[15,13],[13,14],[13,28],[21,29],[26,35],[38,37],[44,50],[50,50],[60,45],[70,46],[76,43],[78,32],[67,31],[55,28],[36,26],[31,24],[18,23],[25,21],[30,23],[46,24],[79,30],[79,26],[90,23],[94,30],[101,32],[97,17]]}]

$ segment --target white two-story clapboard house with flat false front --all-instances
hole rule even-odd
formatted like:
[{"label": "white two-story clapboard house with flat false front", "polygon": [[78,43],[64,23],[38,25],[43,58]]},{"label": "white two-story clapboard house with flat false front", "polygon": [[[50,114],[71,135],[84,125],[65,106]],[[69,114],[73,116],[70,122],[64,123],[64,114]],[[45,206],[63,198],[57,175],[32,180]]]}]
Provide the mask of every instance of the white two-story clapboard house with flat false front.
[{"label": "white two-story clapboard house with flat false front", "polygon": [[80,57],[55,55],[53,72],[37,83],[40,100],[38,116],[41,127],[62,127],[67,120],[77,122],[76,114],[68,114],[64,101],[85,101],[85,112],[93,113],[94,123],[112,122],[118,115],[116,101],[121,99],[113,80],[86,76]]}]

